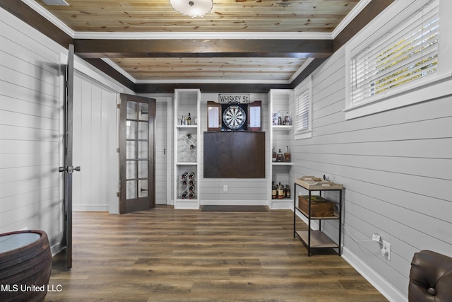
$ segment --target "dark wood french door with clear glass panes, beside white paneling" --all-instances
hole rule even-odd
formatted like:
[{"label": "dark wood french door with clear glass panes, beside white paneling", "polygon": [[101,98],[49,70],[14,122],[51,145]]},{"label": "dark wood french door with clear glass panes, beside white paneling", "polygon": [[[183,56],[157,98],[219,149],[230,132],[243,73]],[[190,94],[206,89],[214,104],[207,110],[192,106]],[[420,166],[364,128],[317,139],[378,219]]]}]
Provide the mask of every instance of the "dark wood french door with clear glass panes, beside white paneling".
[{"label": "dark wood french door with clear glass panes, beside white paneling", "polygon": [[121,94],[119,213],[155,207],[155,99]]}]

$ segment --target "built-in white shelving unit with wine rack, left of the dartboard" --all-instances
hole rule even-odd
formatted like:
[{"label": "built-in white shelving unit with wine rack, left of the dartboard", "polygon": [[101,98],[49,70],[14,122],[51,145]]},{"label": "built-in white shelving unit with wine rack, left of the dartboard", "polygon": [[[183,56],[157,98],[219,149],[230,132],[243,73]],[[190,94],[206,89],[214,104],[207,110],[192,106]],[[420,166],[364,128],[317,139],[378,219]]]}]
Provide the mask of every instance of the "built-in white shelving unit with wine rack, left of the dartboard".
[{"label": "built-in white shelving unit with wine rack, left of the dartboard", "polygon": [[200,112],[199,89],[174,90],[174,209],[199,209]]}]

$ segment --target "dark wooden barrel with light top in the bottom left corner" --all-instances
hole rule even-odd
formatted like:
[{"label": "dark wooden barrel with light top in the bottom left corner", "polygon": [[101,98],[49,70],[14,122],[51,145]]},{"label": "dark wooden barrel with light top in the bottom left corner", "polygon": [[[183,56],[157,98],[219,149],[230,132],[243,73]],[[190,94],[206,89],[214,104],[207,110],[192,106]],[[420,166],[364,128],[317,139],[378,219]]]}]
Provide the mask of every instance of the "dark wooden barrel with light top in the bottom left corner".
[{"label": "dark wooden barrel with light top in the bottom left corner", "polygon": [[51,270],[47,233],[0,234],[0,301],[44,301]]}]

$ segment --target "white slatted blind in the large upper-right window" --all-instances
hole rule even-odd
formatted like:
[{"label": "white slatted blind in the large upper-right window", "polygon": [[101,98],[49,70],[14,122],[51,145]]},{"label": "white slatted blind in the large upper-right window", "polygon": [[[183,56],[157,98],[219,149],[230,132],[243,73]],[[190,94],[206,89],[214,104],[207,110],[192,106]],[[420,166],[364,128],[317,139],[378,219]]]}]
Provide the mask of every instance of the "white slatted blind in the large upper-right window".
[{"label": "white slatted blind in the large upper-right window", "polygon": [[439,1],[369,45],[351,62],[351,103],[432,75],[438,68]]}]

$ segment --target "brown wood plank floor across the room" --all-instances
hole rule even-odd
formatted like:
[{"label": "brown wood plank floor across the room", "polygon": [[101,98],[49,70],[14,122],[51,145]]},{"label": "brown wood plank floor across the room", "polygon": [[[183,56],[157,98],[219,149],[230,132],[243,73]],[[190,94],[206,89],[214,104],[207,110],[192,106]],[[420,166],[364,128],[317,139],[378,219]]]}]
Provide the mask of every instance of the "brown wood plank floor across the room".
[{"label": "brown wood plank floor across the room", "polygon": [[[73,213],[73,268],[45,301],[387,301],[338,255],[307,256],[293,212]],[[302,223],[298,223],[300,226]]]}]

